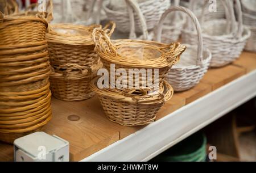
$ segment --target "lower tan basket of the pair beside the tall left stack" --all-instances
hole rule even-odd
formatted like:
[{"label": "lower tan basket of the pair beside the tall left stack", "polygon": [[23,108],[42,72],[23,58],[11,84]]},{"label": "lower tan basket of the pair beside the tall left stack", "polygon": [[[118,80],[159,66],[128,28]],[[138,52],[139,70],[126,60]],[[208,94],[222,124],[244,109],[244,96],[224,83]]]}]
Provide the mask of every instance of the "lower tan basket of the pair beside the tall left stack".
[{"label": "lower tan basket of the pair beside the tall left stack", "polygon": [[65,101],[92,98],[94,93],[90,90],[89,83],[101,67],[102,63],[98,60],[91,67],[69,63],[65,64],[65,69],[52,68],[50,82],[53,96]]}]

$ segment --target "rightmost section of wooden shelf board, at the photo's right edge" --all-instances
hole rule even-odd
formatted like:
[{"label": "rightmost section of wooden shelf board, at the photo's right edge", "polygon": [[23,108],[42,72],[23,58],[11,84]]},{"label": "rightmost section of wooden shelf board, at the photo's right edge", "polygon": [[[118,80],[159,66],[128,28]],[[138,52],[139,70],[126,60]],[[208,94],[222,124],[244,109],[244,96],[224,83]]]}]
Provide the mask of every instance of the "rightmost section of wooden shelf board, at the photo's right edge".
[{"label": "rightmost section of wooden shelf board, at the photo's right edge", "polygon": [[251,52],[243,52],[242,56],[233,64],[245,68],[246,73],[250,73],[250,71],[256,69],[256,54]]}]

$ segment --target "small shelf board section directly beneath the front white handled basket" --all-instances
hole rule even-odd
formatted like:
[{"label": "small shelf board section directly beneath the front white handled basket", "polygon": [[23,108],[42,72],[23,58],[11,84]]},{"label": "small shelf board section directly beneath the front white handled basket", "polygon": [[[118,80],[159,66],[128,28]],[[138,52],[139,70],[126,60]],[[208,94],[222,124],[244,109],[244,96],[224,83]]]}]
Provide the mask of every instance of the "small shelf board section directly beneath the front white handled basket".
[{"label": "small shelf board section directly beneath the front white handled basket", "polygon": [[177,96],[181,98],[185,98],[185,103],[189,104],[196,99],[201,98],[202,96],[208,94],[212,91],[212,87],[207,83],[199,83],[195,87],[191,88],[191,90],[183,91],[183,92],[176,92]]}]

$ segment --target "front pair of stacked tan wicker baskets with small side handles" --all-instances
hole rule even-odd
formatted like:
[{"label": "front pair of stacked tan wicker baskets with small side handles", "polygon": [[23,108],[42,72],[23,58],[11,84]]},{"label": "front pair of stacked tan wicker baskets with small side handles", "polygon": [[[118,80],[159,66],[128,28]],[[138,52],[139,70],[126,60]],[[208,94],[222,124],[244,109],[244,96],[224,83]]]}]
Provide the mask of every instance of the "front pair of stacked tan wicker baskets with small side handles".
[{"label": "front pair of stacked tan wicker baskets with small side handles", "polygon": [[[98,78],[90,83],[100,98],[106,116],[125,126],[146,125],[155,121],[159,109],[174,93],[164,81],[164,75],[176,64],[185,47],[179,43],[167,45],[154,41],[112,42],[102,29],[94,29],[92,36],[96,53],[110,74],[110,84],[103,84]],[[122,71],[120,83],[120,76],[115,75],[113,80],[113,65],[116,73]],[[134,69],[141,71],[140,74],[130,74],[130,70]]]}]

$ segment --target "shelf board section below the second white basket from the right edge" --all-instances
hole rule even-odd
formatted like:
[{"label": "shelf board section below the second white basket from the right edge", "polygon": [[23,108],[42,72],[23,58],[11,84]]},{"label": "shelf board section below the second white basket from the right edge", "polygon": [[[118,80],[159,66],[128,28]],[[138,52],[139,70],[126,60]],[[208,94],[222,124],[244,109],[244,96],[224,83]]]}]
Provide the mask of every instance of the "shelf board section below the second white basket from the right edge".
[{"label": "shelf board section below the second white basket from the right edge", "polygon": [[227,65],[221,68],[209,69],[201,82],[209,84],[212,86],[212,90],[216,90],[245,73],[246,69],[243,67]]}]

